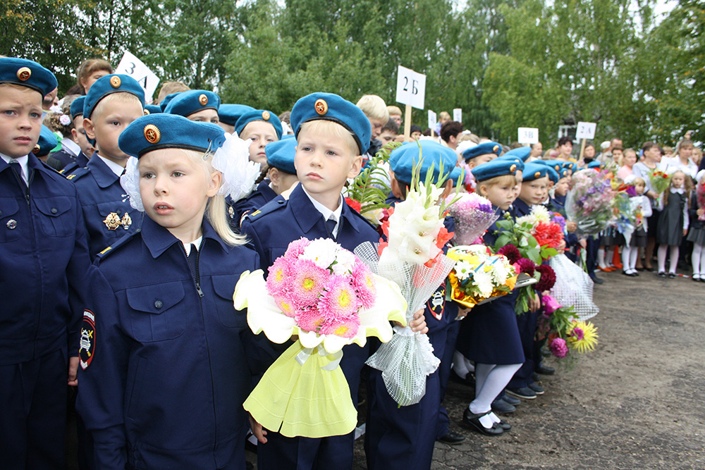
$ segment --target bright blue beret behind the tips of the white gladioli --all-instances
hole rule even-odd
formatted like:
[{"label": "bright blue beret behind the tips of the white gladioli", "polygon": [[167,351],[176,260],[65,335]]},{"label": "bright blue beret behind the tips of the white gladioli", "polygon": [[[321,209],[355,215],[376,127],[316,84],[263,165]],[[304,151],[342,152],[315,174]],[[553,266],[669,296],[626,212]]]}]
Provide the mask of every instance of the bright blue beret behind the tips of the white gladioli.
[{"label": "bright blue beret behind the tips of the white gladioli", "polygon": [[[420,148],[419,148],[420,145]],[[458,154],[438,142],[433,140],[419,140],[418,142],[407,142],[394,149],[389,154],[389,168],[394,172],[397,180],[403,183],[411,183],[414,175],[414,165],[421,162],[421,180],[424,181],[426,173],[434,167],[434,181],[441,176],[441,163],[443,163],[443,177],[458,183],[461,170],[458,164]]]}]

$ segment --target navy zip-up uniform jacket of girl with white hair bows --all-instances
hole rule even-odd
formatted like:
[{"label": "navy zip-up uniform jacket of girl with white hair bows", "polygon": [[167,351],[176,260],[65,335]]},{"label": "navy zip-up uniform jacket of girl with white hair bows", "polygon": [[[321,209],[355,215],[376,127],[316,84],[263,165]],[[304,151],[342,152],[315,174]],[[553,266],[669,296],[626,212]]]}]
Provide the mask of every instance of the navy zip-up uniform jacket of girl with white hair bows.
[{"label": "navy zip-up uniform jacket of girl with white hair bows", "polygon": [[259,257],[202,231],[187,256],[145,218],[91,268],[76,407],[98,469],[245,469],[252,333],[233,291]]}]

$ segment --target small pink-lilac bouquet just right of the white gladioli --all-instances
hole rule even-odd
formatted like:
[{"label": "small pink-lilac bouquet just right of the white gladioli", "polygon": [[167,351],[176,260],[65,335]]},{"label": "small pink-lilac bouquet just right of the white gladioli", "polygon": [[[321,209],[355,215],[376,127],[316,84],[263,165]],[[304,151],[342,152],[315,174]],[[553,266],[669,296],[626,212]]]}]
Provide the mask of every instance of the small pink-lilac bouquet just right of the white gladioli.
[{"label": "small pink-lilac bouquet just right of the white gladioli", "polygon": [[475,192],[460,194],[450,206],[450,216],[455,220],[455,245],[473,245],[499,218],[492,203]]}]

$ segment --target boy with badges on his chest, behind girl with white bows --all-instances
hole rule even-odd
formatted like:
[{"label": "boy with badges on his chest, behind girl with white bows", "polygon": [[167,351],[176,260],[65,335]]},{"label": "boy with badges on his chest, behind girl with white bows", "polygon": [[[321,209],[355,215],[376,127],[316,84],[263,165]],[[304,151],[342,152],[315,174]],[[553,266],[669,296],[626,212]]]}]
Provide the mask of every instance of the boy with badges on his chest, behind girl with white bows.
[{"label": "boy with badges on his chest, behind girl with white bows", "polygon": [[78,187],[91,259],[142,224],[142,213],[130,206],[120,185],[130,156],[118,147],[118,137],[144,115],[144,107],[145,92],[128,75],[99,78],[86,95],[83,124],[96,152],[86,168],[67,178]]}]

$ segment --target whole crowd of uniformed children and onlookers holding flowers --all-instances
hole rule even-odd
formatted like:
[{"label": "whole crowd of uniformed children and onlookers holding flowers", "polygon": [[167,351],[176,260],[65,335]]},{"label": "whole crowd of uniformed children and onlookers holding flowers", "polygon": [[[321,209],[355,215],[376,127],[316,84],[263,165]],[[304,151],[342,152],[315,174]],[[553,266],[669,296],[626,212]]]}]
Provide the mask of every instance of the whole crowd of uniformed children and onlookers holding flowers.
[{"label": "whole crowd of uniformed children and onlookers holding flowers", "polygon": [[[139,83],[102,59],[82,63],[77,77],[59,99],[50,70],[0,58],[0,451],[8,469],[65,466],[68,387],[78,389],[79,436],[69,453],[82,469],[242,469],[247,435],[260,469],[351,468],[355,433],[288,436],[248,419],[243,402],[284,350],[252,333],[233,292],[243,273],[271,273],[300,237],[350,251],[379,242],[379,224],[345,201],[373,161],[386,174],[388,206],[406,199],[422,157],[435,178],[448,178],[443,197],[477,192],[513,220],[538,206],[561,214],[558,252],[596,283],[596,272],[615,268],[673,278],[679,259],[705,282],[697,189],[705,171],[690,135],[675,149],[624,149],[613,139],[599,154],[587,144],[576,155],[570,137],[548,150],[507,147],[446,112],[438,128],[412,125],[405,136],[401,110],[376,95],[353,104],[319,92],[276,113],[180,82],[166,82],[148,104]],[[218,153],[233,148],[244,149],[247,165]],[[579,171],[612,172],[613,184],[633,188],[644,220],[626,233],[615,224],[585,235],[566,210]],[[667,186],[654,183],[655,172]],[[453,223],[446,217],[448,233]],[[494,223],[482,243],[494,247],[503,230]],[[467,429],[510,432],[498,415],[543,394],[540,376],[556,372],[537,335],[541,293],[517,315],[517,290],[469,309],[443,282],[410,321],[440,365],[407,407],[364,365],[379,342],[343,347],[354,403],[361,381],[367,388],[369,468],[428,469],[436,440],[467,439],[450,430],[442,406],[451,378],[474,387],[457,417]]]}]

